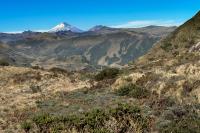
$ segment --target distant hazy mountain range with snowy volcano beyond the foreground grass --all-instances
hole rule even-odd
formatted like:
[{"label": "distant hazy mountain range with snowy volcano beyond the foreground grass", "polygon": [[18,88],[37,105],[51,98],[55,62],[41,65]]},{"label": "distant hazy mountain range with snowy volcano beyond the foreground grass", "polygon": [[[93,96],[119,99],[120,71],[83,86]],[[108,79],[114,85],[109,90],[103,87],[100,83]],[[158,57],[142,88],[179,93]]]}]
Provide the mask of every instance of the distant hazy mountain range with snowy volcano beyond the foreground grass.
[{"label": "distant hazy mountain range with snowy volcano beyond the foreground grass", "polygon": [[17,66],[80,70],[123,67],[144,55],[176,27],[110,28],[82,31],[61,23],[49,32],[0,33],[0,59]]}]

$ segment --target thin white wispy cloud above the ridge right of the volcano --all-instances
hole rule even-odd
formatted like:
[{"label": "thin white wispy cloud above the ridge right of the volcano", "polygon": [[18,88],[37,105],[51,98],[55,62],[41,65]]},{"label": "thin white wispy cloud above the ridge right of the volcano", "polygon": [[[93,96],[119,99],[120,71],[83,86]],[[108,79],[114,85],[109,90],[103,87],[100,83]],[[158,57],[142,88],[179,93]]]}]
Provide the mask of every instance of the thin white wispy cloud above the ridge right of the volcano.
[{"label": "thin white wispy cloud above the ridge right of the volcano", "polygon": [[130,21],[120,25],[113,25],[113,28],[139,28],[145,27],[150,25],[157,25],[157,26],[179,26],[182,22],[177,22],[174,20],[135,20]]}]

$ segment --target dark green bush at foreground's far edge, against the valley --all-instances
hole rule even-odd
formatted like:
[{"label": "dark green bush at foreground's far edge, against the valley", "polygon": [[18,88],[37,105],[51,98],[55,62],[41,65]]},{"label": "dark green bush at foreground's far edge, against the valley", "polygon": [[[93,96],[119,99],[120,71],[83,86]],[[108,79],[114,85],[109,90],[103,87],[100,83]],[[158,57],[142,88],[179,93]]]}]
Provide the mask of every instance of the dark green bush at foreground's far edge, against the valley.
[{"label": "dark green bush at foreground's far edge, against the valley", "polygon": [[104,79],[113,79],[119,74],[120,70],[117,68],[106,68],[95,75],[95,80],[100,81]]}]

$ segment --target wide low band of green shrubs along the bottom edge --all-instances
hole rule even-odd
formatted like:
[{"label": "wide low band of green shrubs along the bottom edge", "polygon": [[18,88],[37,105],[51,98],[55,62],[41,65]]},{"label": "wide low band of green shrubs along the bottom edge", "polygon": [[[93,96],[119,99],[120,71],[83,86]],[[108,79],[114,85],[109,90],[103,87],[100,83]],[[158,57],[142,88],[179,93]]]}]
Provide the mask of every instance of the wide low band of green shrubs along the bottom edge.
[{"label": "wide low band of green shrubs along the bottom edge", "polygon": [[[144,132],[149,130],[149,119],[141,114],[140,108],[119,104],[113,109],[94,109],[77,115],[37,115],[32,119],[40,132],[111,133]],[[134,124],[133,124],[134,123]],[[24,129],[24,128],[23,128]]]}]

